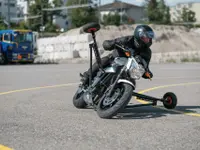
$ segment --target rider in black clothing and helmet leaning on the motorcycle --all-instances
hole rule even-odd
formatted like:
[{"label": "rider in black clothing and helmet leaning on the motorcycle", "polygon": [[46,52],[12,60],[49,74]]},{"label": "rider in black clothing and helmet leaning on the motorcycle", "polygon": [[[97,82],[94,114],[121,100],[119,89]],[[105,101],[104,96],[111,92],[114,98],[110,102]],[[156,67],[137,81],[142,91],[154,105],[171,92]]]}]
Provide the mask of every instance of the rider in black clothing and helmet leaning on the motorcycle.
[{"label": "rider in black clothing and helmet leaning on the motorcycle", "polygon": [[[151,60],[152,54],[150,49],[150,46],[152,45],[152,38],[154,38],[154,31],[150,26],[138,25],[135,28],[134,34],[132,36],[125,36],[113,40],[105,40],[103,42],[103,48],[109,51],[113,49],[115,50],[111,54],[101,58],[102,66],[106,67],[107,65],[109,65],[115,57],[125,56],[124,52],[122,52],[121,49],[115,46],[115,44],[120,44],[126,46],[127,48],[135,50],[136,60],[138,61],[138,63],[141,63],[145,66],[145,68],[147,68],[147,72],[149,73],[150,78],[152,78],[153,74],[149,70],[149,62]],[[98,70],[98,64],[95,62],[92,66],[92,78],[96,76]],[[83,73],[81,79],[83,84],[89,83],[89,75],[90,70]],[[145,79],[149,78],[145,73],[142,77]]]}]

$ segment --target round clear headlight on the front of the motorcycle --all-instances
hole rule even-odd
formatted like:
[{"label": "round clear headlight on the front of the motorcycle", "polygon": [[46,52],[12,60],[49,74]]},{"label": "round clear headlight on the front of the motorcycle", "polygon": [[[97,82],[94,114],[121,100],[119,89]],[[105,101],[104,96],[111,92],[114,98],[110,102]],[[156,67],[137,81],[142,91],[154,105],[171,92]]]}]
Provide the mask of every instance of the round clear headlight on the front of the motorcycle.
[{"label": "round clear headlight on the front of the motorcycle", "polygon": [[131,78],[136,80],[140,79],[144,73],[145,70],[142,65],[138,66],[132,65],[131,68],[129,69],[129,74]]}]

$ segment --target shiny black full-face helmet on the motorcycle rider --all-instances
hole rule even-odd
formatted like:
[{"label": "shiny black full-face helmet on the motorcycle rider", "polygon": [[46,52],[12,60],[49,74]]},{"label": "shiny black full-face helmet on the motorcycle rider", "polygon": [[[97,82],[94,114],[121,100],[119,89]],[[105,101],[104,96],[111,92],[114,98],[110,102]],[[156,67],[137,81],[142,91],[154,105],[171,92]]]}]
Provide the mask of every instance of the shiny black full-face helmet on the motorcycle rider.
[{"label": "shiny black full-face helmet on the motorcycle rider", "polygon": [[134,31],[134,42],[138,48],[150,47],[154,38],[154,31],[148,25],[138,25]]}]

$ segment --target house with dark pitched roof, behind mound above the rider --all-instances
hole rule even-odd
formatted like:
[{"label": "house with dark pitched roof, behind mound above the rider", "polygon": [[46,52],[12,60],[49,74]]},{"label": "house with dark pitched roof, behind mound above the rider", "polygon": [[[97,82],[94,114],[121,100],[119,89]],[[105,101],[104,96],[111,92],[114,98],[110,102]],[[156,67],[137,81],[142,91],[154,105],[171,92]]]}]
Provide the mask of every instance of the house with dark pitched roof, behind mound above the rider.
[{"label": "house with dark pitched roof, behind mound above the rider", "polygon": [[115,0],[113,3],[100,6],[99,10],[102,21],[103,16],[108,15],[109,13],[119,13],[120,16],[125,15],[134,20],[135,23],[138,23],[145,18],[145,11],[143,7],[117,0]]}]

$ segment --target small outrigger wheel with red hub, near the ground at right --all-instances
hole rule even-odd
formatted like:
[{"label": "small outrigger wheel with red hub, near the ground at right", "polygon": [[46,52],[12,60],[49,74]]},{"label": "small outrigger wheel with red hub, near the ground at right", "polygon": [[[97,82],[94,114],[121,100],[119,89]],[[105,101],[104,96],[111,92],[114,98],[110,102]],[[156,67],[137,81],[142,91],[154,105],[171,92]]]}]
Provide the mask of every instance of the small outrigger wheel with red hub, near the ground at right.
[{"label": "small outrigger wheel with red hub, near the ground at right", "polygon": [[177,97],[174,93],[168,92],[163,96],[163,105],[167,109],[174,109],[177,105]]}]

